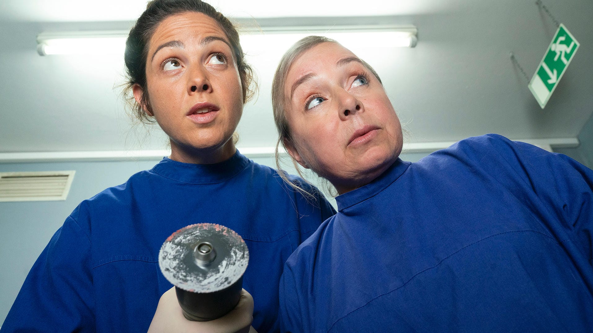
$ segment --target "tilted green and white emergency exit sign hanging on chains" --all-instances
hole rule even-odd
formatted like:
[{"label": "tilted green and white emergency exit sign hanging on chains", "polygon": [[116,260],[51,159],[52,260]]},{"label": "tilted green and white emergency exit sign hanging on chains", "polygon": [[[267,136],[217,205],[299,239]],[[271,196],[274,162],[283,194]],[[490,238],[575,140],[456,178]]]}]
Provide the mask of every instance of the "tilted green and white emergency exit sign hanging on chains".
[{"label": "tilted green and white emergency exit sign hanging on chains", "polygon": [[578,48],[579,42],[570,34],[564,24],[560,24],[546,55],[541,59],[540,65],[528,85],[541,108],[544,108],[550,100],[552,92],[556,89],[558,81],[566,72],[566,68]]}]

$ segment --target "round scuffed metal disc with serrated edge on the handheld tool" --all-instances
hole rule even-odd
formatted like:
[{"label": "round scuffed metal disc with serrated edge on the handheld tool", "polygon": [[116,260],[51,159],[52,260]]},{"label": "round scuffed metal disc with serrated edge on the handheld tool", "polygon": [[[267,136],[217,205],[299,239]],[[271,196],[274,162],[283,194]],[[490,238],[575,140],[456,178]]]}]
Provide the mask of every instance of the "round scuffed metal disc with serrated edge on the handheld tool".
[{"label": "round scuffed metal disc with serrated edge on the handheld tool", "polygon": [[199,223],[169,236],[158,254],[162,274],[174,286],[213,293],[237,282],[249,262],[247,245],[225,226]]}]

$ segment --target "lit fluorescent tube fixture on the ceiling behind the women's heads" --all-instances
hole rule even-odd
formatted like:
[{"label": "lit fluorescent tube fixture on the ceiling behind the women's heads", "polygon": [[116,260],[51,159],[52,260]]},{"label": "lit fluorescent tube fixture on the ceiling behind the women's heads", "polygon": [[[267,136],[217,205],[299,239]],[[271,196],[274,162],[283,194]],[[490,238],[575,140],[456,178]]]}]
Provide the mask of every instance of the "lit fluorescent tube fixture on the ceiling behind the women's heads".
[{"label": "lit fluorescent tube fixture on the ceiling behind the women's heads", "polygon": [[[39,55],[98,55],[119,53],[125,50],[129,31],[75,31],[40,33],[37,36]],[[326,36],[346,47],[354,44],[382,47],[415,47],[416,27],[396,25],[328,25],[299,27],[262,27],[242,29],[241,44],[244,49],[262,49],[278,46],[274,40],[298,39],[309,35]]]}]

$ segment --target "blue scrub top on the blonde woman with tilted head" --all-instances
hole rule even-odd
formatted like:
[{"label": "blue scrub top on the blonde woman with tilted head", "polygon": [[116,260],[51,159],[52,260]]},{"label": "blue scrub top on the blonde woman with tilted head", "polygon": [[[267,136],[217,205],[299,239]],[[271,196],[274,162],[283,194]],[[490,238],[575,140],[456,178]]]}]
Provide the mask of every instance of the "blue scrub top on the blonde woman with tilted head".
[{"label": "blue scrub top on the blonde woman with tilted head", "polygon": [[292,254],[282,331],[593,331],[593,171],[498,135],[398,160]]}]

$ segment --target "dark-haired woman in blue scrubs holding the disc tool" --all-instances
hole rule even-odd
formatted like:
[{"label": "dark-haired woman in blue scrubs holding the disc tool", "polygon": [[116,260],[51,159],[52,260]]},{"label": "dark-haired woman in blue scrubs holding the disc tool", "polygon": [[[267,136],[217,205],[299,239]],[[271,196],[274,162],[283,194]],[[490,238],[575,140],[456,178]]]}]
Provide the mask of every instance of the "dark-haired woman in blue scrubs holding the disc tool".
[{"label": "dark-haired woman in blue scrubs holding the disc tool", "polygon": [[2,331],[146,332],[171,289],[160,246],[205,222],[245,240],[252,325],[277,331],[283,264],[333,209],[310,185],[294,178],[313,199],[235,149],[251,87],[237,30],[202,1],[152,1],[130,31],[125,60],[139,116],[167,133],[171,156],[76,207],[35,262]]}]

